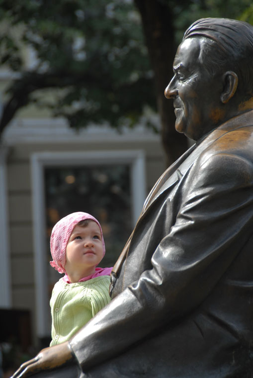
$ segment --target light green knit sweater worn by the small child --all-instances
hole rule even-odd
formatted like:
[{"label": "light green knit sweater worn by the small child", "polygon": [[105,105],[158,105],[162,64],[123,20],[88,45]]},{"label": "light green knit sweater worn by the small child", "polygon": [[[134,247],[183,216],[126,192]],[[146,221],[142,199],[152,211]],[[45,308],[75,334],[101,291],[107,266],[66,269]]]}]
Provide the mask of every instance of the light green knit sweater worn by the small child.
[{"label": "light green knit sweater worn by the small child", "polygon": [[61,278],[50,299],[52,341],[50,347],[69,340],[101,308],[110,302],[109,276],[78,283],[65,283]]}]

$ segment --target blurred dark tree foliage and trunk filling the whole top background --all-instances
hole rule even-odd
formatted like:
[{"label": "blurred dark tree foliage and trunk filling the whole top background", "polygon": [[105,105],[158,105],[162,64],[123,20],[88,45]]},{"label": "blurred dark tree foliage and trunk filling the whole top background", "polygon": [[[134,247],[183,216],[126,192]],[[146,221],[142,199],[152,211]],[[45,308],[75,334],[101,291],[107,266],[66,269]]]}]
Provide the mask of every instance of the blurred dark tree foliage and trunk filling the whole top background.
[{"label": "blurred dark tree foliage and trunk filling the whole top background", "polygon": [[[0,62],[19,73],[7,90],[0,133],[30,102],[76,128],[133,126],[150,107],[159,112],[171,164],[186,139],[175,132],[172,101],[163,93],[176,46],[201,17],[251,22],[253,6],[251,0],[0,0]],[[25,46],[36,53],[32,67]]]}]

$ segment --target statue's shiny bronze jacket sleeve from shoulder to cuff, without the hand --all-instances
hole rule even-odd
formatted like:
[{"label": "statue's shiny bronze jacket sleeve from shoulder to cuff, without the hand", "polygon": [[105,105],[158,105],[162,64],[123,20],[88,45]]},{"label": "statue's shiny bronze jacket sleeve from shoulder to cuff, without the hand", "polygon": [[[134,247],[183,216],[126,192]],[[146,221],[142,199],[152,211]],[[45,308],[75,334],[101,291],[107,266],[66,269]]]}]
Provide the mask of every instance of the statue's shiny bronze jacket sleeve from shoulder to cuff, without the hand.
[{"label": "statue's shiny bronze jacket sleeve from shoulder to cuff, without the hand", "polygon": [[154,251],[153,269],[70,341],[84,372],[196,308],[236,257],[245,229],[252,233],[248,161],[226,154],[200,160],[183,178],[181,195],[175,224]]}]

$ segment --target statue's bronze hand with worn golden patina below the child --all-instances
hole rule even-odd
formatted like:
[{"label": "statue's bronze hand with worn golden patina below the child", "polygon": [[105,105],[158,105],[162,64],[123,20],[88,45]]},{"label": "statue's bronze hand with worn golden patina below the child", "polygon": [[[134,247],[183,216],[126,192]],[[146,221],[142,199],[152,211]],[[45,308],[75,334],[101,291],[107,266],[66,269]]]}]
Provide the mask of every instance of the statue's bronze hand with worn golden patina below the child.
[{"label": "statue's bronze hand with worn golden patina below the child", "polygon": [[62,367],[74,361],[68,342],[42,349],[35,358],[22,364],[11,378],[25,378],[35,373]]}]

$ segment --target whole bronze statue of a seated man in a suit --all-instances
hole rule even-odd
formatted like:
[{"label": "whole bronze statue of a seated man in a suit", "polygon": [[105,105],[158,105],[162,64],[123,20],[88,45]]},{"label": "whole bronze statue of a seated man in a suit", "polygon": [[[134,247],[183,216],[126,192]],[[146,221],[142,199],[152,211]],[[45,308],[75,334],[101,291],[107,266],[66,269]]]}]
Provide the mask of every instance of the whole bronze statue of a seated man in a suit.
[{"label": "whole bronze statue of a seated man in a suit", "polygon": [[13,377],[253,376],[253,26],[194,22],[173,71],[175,127],[196,144],[149,194],[111,303]]}]

